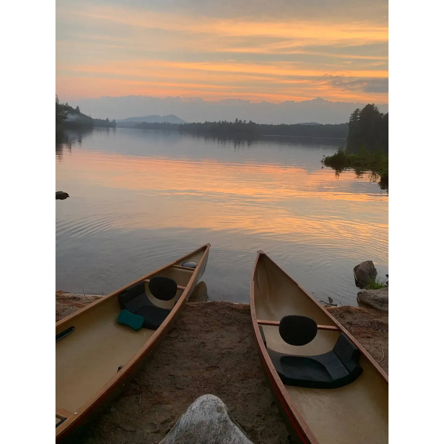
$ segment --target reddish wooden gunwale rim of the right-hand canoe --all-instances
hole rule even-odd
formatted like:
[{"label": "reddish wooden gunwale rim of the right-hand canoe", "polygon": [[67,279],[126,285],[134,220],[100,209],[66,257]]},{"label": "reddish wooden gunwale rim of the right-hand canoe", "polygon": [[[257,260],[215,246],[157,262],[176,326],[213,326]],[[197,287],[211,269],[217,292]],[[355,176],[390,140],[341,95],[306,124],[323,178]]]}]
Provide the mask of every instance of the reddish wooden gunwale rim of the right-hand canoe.
[{"label": "reddish wooden gunwale rim of the right-hand canoe", "polygon": [[[311,301],[313,301],[329,317],[329,319],[333,322],[333,324],[337,326],[336,331],[344,333],[345,336],[348,337],[349,340],[353,342],[353,344],[359,349],[361,354],[363,354],[369,360],[370,364],[372,364],[375,367],[375,369],[377,369],[378,373],[380,373],[380,375],[384,378],[387,384],[389,383],[389,376],[387,375],[387,373],[385,373],[385,371],[381,368],[381,366],[373,359],[373,357],[371,357],[370,354],[361,346],[361,344],[359,344],[359,342],[313,296],[311,296],[305,289],[303,289],[291,276],[289,276],[289,274],[285,273],[285,271],[282,270],[281,267],[279,267],[266,253],[264,253],[262,250],[259,250],[256,256],[256,260],[254,261],[254,267],[250,280],[250,313],[251,313],[251,320],[253,323],[254,339],[256,341],[256,345],[259,350],[261,362],[266,371],[267,377],[270,379],[270,383],[275,392],[274,394],[275,396],[277,396],[279,402],[281,403],[281,407],[284,409],[287,419],[291,423],[293,429],[297,432],[297,435],[301,440],[301,442],[303,444],[319,444],[319,441],[313,435],[313,432],[310,430],[308,424],[303,419],[301,413],[299,412],[296,405],[293,403],[293,400],[289,396],[289,393],[287,392],[284,383],[281,381],[281,378],[279,377],[276,369],[274,368],[274,365],[266,350],[266,346],[262,341],[262,336],[259,331],[258,321],[263,322],[263,320],[257,319],[256,309],[254,305],[254,275],[261,256],[266,256],[271,262],[273,262],[286,276],[288,276],[291,279],[291,281],[293,281],[297,285],[299,289],[301,289],[303,293],[305,293],[306,296],[310,298]],[[269,322],[276,322],[276,321],[269,321]],[[264,325],[269,325],[269,324],[264,324]]]}]

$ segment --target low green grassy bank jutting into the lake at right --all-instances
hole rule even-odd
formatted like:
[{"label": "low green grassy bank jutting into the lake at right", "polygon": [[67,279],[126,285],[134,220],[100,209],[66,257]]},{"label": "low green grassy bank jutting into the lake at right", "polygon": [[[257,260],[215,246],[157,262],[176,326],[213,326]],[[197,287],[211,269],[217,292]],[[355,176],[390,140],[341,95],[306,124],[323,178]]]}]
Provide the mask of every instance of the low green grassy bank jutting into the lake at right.
[{"label": "low green grassy bank jutting into the lake at right", "polygon": [[389,155],[383,151],[361,149],[356,154],[339,147],[333,155],[324,156],[321,163],[336,170],[336,174],[353,169],[358,176],[361,176],[364,171],[370,171],[374,176],[379,176],[378,183],[382,190],[389,189]]}]

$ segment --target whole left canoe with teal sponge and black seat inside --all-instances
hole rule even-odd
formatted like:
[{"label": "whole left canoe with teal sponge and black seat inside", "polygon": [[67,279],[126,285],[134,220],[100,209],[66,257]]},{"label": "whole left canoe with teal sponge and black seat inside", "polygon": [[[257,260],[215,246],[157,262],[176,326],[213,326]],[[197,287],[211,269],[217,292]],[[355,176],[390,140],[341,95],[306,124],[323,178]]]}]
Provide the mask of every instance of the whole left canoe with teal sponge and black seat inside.
[{"label": "whole left canoe with teal sponge and black seat inside", "polygon": [[56,442],[71,440],[159,345],[209,250],[206,244],[56,323]]}]

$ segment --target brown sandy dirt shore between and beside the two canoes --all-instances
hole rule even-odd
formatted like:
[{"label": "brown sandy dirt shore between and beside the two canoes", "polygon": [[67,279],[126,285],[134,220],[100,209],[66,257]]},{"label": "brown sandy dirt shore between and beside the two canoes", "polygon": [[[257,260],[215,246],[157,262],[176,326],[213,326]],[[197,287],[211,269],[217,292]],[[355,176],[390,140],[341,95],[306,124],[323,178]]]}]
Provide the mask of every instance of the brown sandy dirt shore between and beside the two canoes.
[{"label": "brown sandy dirt shore between and beside the two canoes", "polygon": [[[198,300],[205,300],[204,290],[196,288]],[[56,320],[88,303],[83,295],[74,297],[79,299],[56,293]],[[360,307],[328,309],[376,361],[384,347],[380,365],[388,371],[387,316]],[[91,424],[82,442],[158,443],[186,408],[206,393],[225,402],[254,443],[289,443],[260,365],[249,305],[186,304],[151,360]]]}]

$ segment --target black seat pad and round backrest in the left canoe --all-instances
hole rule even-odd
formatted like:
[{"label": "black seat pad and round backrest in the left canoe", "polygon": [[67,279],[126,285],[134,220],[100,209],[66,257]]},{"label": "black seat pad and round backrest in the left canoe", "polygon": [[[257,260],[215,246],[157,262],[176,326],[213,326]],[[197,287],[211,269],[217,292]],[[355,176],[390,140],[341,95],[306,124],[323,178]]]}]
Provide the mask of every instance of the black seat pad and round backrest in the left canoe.
[{"label": "black seat pad and round backrest in the left canoe", "polygon": [[[155,276],[150,279],[149,289],[157,299],[170,301],[176,295],[177,284],[170,277]],[[148,299],[145,293],[145,282],[123,290],[118,299],[122,310],[128,310],[130,313],[142,316],[143,328],[150,330],[157,330],[171,311],[154,305]]]}]

